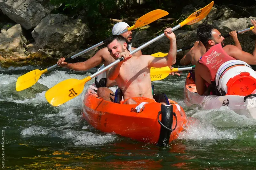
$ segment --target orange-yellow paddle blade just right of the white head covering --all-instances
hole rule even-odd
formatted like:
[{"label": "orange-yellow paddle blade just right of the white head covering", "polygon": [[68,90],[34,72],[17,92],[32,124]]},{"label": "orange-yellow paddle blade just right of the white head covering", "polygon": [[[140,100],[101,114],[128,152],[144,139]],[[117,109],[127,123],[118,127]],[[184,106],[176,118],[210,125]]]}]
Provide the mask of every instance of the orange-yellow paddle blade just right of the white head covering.
[{"label": "orange-yellow paddle blade just right of the white head covering", "polygon": [[150,11],[148,13],[146,13],[145,15],[143,15],[142,17],[140,17],[135,25],[132,25],[131,27],[128,28],[128,31],[134,30],[136,28],[148,25],[154,21],[156,21],[159,18],[162,18],[166,15],[168,15],[169,13],[167,11],[164,10],[154,10],[154,11]]}]

